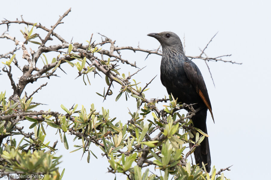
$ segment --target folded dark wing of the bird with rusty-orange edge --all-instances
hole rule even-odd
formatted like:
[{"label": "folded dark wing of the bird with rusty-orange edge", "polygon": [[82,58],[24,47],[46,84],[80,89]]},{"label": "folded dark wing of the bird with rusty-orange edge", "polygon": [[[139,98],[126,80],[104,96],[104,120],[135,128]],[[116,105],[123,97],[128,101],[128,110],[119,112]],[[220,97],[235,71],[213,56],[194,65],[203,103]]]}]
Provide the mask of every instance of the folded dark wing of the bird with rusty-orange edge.
[{"label": "folded dark wing of the bird with rusty-orange edge", "polygon": [[205,85],[205,82],[203,80],[200,70],[198,69],[196,64],[194,64],[190,60],[184,62],[183,68],[184,68],[187,78],[196,89],[198,95],[201,97],[202,101],[204,102],[208,110],[210,111],[211,116],[213,118],[211,102],[210,102],[208,91],[206,89],[206,85]]}]

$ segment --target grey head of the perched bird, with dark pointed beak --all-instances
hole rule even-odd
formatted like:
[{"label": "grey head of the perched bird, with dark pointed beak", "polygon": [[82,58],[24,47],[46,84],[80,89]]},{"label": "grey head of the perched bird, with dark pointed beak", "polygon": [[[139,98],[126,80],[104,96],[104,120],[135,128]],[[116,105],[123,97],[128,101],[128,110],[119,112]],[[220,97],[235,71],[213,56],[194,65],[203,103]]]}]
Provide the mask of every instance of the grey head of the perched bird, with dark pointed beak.
[{"label": "grey head of the perched bird, with dark pointed beak", "polygon": [[150,33],[147,36],[151,36],[157,39],[160,42],[163,50],[171,48],[183,50],[182,42],[179,36],[176,35],[174,32],[165,31],[160,33]]}]

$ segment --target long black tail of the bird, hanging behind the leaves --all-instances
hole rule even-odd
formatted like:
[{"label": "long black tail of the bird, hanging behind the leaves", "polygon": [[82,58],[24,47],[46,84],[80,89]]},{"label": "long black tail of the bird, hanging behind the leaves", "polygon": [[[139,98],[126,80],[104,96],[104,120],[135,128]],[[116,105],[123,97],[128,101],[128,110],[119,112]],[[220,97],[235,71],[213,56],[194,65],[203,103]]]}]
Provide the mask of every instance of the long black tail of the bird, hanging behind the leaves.
[{"label": "long black tail of the bird, hanging behind the leaves", "polygon": [[[207,134],[206,116],[207,107],[199,110],[196,115],[192,117],[192,121],[194,127],[199,128],[201,131]],[[195,142],[195,136],[194,138],[192,138],[192,140]],[[199,164],[199,167],[202,167],[202,162],[204,164],[207,164],[205,167],[207,172],[209,173],[211,170],[211,155],[208,137],[205,137],[204,140],[200,143],[200,146],[196,147],[194,151],[194,156],[196,164]]]}]

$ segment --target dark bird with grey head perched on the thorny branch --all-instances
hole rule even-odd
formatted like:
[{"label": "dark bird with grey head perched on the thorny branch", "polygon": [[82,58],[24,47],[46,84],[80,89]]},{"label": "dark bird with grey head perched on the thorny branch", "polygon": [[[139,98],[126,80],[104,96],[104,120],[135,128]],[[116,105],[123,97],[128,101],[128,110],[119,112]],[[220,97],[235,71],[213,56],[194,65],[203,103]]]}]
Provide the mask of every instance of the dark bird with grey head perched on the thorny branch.
[{"label": "dark bird with grey head perched on the thorny branch", "polygon": [[[167,31],[150,33],[147,36],[157,39],[162,46],[160,79],[168,94],[172,94],[182,103],[194,104],[192,106],[196,113],[192,116],[193,126],[207,134],[207,110],[210,111],[213,121],[214,118],[208,91],[198,66],[185,56],[182,42],[175,33]],[[192,140],[195,142],[195,136]],[[200,146],[196,147],[194,156],[199,167],[202,167],[202,162],[207,164],[205,168],[209,173],[211,155],[208,137],[204,137]]]}]

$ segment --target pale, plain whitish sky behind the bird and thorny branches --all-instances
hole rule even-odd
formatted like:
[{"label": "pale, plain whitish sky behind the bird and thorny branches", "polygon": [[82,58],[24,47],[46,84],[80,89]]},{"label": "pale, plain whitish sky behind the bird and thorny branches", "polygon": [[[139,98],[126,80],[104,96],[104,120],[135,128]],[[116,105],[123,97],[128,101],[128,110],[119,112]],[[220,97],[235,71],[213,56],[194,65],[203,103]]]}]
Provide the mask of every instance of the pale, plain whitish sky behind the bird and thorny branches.
[{"label": "pale, plain whitish sky behind the bird and thorny branches", "polygon": [[[28,22],[40,22],[50,28],[69,7],[72,7],[68,16],[63,19],[64,24],[59,25],[55,32],[66,41],[85,43],[93,38],[100,41],[100,32],[116,40],[118,46],[134,46],[140,43],[141,48],[156,49],[159,42],[146,36],[152,32],[172,31],[183,38],[185,34],[186,55],[199,55],[198,47],[204,48],[213,35],[219,31],[206,53],[210,57],[232,54],[225,60],[242,62],[242,65],[224,62],[209,62],[210,70],[216,87],[203,60],[193,60],[203,74],[210,101],[213,108],[215,124],[210,113],[207,116],[207,128],[210,135],[210,151],[212,166],[216,169],[225,168],[233,164],[231,171],[225,172],[230,179],[265,179],[265,170],[270,168],[270,2],[269,1],[6,1],[1,2],[0,18],[8,20],[23,18]],[[3,19],[1,19],[3,20]],[[16,36],[19,41],[23,37],[19,29],[24,25],[11,25],[10,35]],[[0,26],[0,33],[5,27]],[[34,32],[36,29],[34,29]],[[40,32],[39,32],[40,33]],[[45,35],[42,34],[41,35]],[[55,37],[53,37],[56,39]],[[97,42],[96,41],[96,42]],[[58,41],[48,42],[46,45],[56,44]],[[14,49],[12,41],[0,39],[0,54]],[[31,47],[38,47],[31,44]],[[106,47],[104,47],[106,48]],[[34,48],[33,48],[34,49]],[[16,57],[22,64],[21,53]],[[146,82],[155,75],[158,76],[149,85],[146,98],[163,98],[167,94],[166,88],[160,82],[161,56],[149,55],[144,61],[146,53],[133,53],[124,51],[122,57],[131,62],[136,61],[139,67],[147,67],[134,76],[137,82]],[[55,57],[48,54],[48,61]],[[1,59],[0,61],[5,61]],[[42,63],[42,61],[40,61]],[[2,63],[1,63],[2,64]],[[42,66],[42,64],[41,64]],[[3,64],[0,65],[1,69]],[[126,103],[124,96],[116,103],[115,98],[120,86],[114,84],[114,94],[108,96],[102,103],[102,98],[95,92],[101,93],[105,84],[104,78],[90,76],[91,85],[84,85],[83,77],[76,80],[76,68],[68,65],[61,66],[68,75],[57,70],[59,77],[43,79],[27,86],[30,95],[42,83],[48,80],[48,85],[39,91],[33,101],[49,104],[41,106],[63,112],[60,105],[71,107],[74,103],[83,104],[86,108],[94,103],[97,110],[101,107],[110,109],[110,116],[117,116],[117,121],[126,123],[130,119],[127,106],[133,112],[136,110],[134,99]],[[19,72],[12,71],[14,77]],[[132,73],[136,69],[131,68]],[[128,70],[123,70],[128,72]],[[7,97],[12,93],[7,74],[0,75],[0,91],[7,91]],[[123,104],[121,104],[123,103]],[[161,104],[160,104],[161,105]],[[79,108],[79,107],[78,107]],[[118,112],[117,112],[118,111]],[[118,113],[122,113],[121,116]],[[183,111],[183,113],[186,113]],[[22,125],[24,125],[23,122]],[[24,125],[28,127],[27,125]],[[50,128],[48,128],[50,129]],[[106,157],[101,158],[101,150],[92,145],[93,152],[98,157],[91,156],[86,162],[87,155],[80,161],[82,151],[69,153],[74,150],[70,139],[69,150],[59,140],[55,131],[46,131],[47,139],[51,144],[58,139],[57,155],[63,155],[60,172],[65,168],[63,179],[114,179],[114,175],[107,172],[109,165]],[[51,134],[49,134],[51,132]],[[77,141],[76,144],[80,144]],[[150,168],[154,171],[153,167]],[[158,172],[158,170],[156,170]],[[126,179],[118,175],[117,179]]]}]

